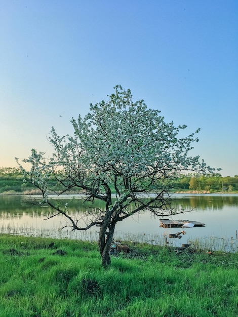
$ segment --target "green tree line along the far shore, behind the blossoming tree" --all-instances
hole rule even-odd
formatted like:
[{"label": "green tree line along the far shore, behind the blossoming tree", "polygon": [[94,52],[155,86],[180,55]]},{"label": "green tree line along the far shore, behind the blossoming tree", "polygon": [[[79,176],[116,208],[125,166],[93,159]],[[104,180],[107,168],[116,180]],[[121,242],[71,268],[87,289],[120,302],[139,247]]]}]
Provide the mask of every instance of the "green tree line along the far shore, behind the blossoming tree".
[{"label": "green tree line along the far shore, behind the blossoming tree", "polygon": [[[61,173],[59,171],[58,173]],[[52,177],[52,193],[57,191],[57,183]],[[171,191],[199,191],[199,192],[218,192],[238,191],[238,175],[234,177],[221,176],[221,174],[210,174],[199,176],[194,174],[180,175],[174,179],[170,185]],[[62,188],[61,188],[62,189]],[[30,183],[24,182],[24,177],[18,168],[0,168],[0,193],[37,193],[35,187]]]}]

